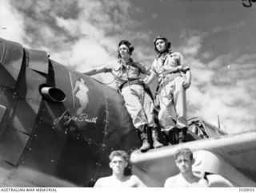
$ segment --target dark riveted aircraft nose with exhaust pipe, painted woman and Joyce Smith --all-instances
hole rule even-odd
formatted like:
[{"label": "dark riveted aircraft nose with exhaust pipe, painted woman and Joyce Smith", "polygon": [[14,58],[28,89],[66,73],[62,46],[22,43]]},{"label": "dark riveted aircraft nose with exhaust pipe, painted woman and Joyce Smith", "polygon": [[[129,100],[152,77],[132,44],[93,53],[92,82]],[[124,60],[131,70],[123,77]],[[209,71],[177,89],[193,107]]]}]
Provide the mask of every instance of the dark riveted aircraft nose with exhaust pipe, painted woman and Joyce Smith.
[{"label": "dark riveted aircraft nose with exhaust pipe, painted woman and Joyce Smith", "polygon": [[88,187],[108,155],[140,145],[114,89],[0,39],[2,186]]}]

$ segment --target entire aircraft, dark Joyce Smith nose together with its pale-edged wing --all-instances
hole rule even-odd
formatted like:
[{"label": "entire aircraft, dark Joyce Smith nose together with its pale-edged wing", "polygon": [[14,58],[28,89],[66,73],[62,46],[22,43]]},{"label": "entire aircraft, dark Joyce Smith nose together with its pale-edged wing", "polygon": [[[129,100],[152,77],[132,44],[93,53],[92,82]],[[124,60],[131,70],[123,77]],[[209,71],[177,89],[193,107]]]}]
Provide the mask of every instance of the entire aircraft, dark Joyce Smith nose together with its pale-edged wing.
[{"label": "entire aircraft, dark Joyce Smith nose together with its pale-edged wing", "polygon": [[226,135],[194,118],[190,142],[141,153],[124,101],[109,86],[2,38],[0,76],[1,187],[92,187],[110,175],[116,149],[131,153],[130,169],[147,186],[162,187],[178,173],[174,152],[182,147],[195,151],[194,171],[212,187],[255,187],[255,131]]}]

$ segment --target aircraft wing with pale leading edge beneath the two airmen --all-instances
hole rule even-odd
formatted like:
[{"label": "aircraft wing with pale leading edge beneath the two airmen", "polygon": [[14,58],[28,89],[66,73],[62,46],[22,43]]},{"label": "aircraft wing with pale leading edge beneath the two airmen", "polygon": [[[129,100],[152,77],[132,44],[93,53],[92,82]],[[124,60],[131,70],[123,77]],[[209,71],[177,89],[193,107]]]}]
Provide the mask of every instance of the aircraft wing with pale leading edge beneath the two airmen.
[{"label": "aircraft wing with pale leading edge beneath the two airmen", "polygon": [[256,186],[256,131],[133,152],[134,174],[150,187],[162,187],[168,177],[178,174],[174,153],[179,148],[194,151],[193,171],[207,175],[210,187]]}]

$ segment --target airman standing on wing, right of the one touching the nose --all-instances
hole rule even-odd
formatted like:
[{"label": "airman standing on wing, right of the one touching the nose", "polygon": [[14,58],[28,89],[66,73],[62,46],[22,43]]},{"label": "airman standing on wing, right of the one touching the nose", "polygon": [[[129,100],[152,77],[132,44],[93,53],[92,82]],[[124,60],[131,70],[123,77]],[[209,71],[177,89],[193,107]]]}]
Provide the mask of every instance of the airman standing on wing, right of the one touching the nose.
[{"label": "airman standing on wing, right of the one touching the nose", "polygon": [[170,144],[177,144],[186,142],[186,89],[190,88],[191,73],[182,54],[171,51],[170,45],[166,37],[154,39],[157,57],[150,77],[144,82],[149,85],[158,77],[159,123]]}]

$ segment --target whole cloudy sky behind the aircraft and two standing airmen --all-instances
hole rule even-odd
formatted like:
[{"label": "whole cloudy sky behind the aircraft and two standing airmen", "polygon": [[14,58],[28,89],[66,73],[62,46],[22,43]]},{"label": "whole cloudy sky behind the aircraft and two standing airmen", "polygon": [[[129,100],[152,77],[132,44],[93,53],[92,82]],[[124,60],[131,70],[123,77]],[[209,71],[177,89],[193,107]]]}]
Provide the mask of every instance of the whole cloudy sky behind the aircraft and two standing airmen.
[{"label": "whole cloudy sky behind the aircraft and two standing airmen", "polygon": [[188,118],[217,126],[219,116],[225,132],[246,132],[256,129],[256,3],[242,5],[249,1],[0,0],[0,37],[82,73],[114,60],[122,39],[150,67],[154,37],[163,35],[190,65]]}]

